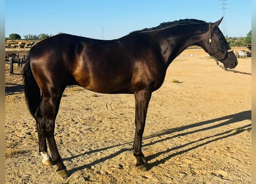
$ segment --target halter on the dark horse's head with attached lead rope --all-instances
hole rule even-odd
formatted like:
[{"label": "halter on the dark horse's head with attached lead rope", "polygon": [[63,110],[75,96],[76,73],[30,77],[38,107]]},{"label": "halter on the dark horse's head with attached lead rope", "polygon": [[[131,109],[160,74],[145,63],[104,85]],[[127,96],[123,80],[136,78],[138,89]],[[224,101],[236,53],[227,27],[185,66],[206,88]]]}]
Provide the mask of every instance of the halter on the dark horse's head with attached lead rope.
[{"label": "halter on the dark horse's head with attached lead rope", "polygon": [[225,50],[225,49],[222,49],[222,48],[220,48],[220,47],[217,47],[217,45],[214,45],[215,47],[219,48],[220,50],[226,51],[226,52],[223,54],[223,56],[222,56],[220,59],[217,59],[216,57],[214,57],[214,56],[211,55],[211,53],[210,53],[210,48],[211,48],[211,44],[212,44],[212,39],[211,39],[211,37],[212,37],[212,35],[211,35],[211,26],[212,26],[212,22],[209,22],[209,49],[208,49],[208,53],[209,53],[209,55],[210,55],[211,57],[213,57],[213,59],[216,61],[217,66],[219,66],[221,69],[223,69],[223,70],[225,70],[225,71],[232,71],[232,72],[234,72],[234,73],[251,75],[250,73],[247,73],[247,72],[240,72],[240,71],[237,71],[237,70],[231,70],[231,69],[225,68],[225,67],[223,67],[223,66],[221,66],[221,65],[219,64],[219,61],[218,61],[218,60],[224,59],[225,56],[226,56],[226,54],[227,54],[228,52],[233,52],[233,49]]}]

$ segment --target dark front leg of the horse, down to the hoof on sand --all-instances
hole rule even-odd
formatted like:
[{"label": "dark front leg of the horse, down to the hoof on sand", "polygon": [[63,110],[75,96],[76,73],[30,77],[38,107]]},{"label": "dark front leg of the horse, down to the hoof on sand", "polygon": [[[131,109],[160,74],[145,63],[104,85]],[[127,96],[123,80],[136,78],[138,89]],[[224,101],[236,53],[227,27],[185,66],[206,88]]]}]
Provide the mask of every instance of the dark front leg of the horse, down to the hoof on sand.
[{"label": "dark front leg of the horse, down to the hoof on sand", "polygon": [[142,90],[135,93],[135,137],[133,142],[133,155],[137,162],[135,167],[146,171],[146,159],[142,153],[142,136],[144,132],[148,103],[151,98],[151,91]]}]

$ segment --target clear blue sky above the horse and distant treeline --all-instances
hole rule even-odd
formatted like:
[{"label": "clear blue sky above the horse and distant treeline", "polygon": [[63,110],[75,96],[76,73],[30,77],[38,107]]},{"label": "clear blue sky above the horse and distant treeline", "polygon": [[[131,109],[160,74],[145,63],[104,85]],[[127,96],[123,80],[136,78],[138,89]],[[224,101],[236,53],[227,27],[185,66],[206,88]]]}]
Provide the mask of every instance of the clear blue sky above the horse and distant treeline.
[{"label": "clear blue sky above the horse and distant treeline", "polygon": [[[18,33],[23,38],[26,34],[62,32],[117,39],[161,22],[185,18],[215,22],[223,15],[221,3],[220,0],[7,0],[5,36]],[[251,30],[251,0],[227,0],[226,4],[226,17],[220,29],[231,37],[246,36]]]}]

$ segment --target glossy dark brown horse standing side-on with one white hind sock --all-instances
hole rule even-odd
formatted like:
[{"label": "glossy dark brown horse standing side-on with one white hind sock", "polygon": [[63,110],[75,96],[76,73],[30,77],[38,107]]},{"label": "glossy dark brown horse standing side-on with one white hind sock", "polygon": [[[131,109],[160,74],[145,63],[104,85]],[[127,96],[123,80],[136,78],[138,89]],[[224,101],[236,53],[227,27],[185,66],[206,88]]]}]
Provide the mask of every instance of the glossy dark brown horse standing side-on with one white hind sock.
[{"label": "glossy dark brown horse standing side-on with one white hind sock", "polygon": [[36,120],[43,164],[56,164],[57,173],[67,176],[54,138],[55,118],[66,86],[79,85],[98,93],[135,95],[133,155],[136,168],[147,170],[142,136],[148,103],[175,57],[190,45],[198,45],[225,68],[238,64],[218,28],[221,20],[165,22],[116,40],[58,34],[33,46],[22,75],[28,108]]}]

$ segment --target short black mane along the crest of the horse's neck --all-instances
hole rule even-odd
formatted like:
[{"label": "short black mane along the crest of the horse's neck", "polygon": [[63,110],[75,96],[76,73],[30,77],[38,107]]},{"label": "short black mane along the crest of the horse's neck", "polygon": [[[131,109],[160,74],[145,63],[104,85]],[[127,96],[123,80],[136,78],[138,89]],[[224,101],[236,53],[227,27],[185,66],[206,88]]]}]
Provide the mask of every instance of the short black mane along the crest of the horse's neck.
[{"label": "short black mane along the crest of the horse's neck", "polygon": [[177,25],[184,25],[184,24],[195,24],[195,23],[205,23],[205,21],[201,21],[201,20],[196,20],[196,19],[181,19],[181,20],[176,20],[176,21],[172,21],[172,22],[162,22],[160,25],[153,27],[153,28],[144,28],[141,30],[135,30],[131,33],[141,33],[141,32],[150,32],[153,30],[159,30],[159,29],[165,29],[165,28],[169,28],[171,26],[177,26]]}]

